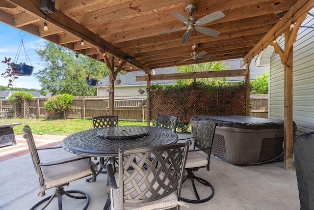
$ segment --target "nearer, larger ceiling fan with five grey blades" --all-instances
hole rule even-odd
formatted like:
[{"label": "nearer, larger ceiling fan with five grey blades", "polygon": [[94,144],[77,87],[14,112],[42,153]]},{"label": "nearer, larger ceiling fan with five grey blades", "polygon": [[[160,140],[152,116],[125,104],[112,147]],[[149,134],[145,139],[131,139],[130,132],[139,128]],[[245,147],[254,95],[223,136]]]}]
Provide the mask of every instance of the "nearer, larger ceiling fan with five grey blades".
[{"label": "nearer, larger ceiling fan with five grey blades", "polygon": [[171,14],[173,16],[175,16],[178,20],[180,20],[183,23],[182,28],[165,30],[165,31],[159,32],[158,34],[164,34],[164,33],[169,33],[169,32],[173,32],[173,31],[177,31],[177,30],[181,30],[181,29],[186,29],[186,31],[182,37],[181,43],[187,42],[187,40],[189,39],[189,37],[191,35],[192,30],[199,31],[201,33],[204,33],[206,35],[213,36],[213,37],[216,37],[219,35],[219,33],[220,33],[219,31],[209,29],[206,27],[201,27],[200,25],[207,24],[209,22],[212,22],[212,21],[218,20],[219,18],[224,17],[225,14],[222,11],[217,11],[217,12],[211,13],[211,14],[206,15],[200,19],[198,19],[195,16],[192,16],[192,14],[196,11],[196,5],[195,4],[189,4],[188,6],[186,6],[185,11],[190,15],[187,18],[184,17],[180,12],[171,12]]}]

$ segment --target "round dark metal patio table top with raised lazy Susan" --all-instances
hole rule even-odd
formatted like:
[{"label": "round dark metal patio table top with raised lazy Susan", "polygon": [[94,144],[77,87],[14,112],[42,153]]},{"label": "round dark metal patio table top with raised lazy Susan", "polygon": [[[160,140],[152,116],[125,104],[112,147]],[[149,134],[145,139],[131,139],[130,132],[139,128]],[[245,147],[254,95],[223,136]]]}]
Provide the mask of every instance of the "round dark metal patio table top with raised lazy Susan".
[{"label": "round dark metal patio table top with raised lazy Susan", "polygon": [[165,128],[112,126],[80,131],[66,137],[63,149],[91,157],[115,157],[118,149],[130,150],[176,143],[178,135]]}]

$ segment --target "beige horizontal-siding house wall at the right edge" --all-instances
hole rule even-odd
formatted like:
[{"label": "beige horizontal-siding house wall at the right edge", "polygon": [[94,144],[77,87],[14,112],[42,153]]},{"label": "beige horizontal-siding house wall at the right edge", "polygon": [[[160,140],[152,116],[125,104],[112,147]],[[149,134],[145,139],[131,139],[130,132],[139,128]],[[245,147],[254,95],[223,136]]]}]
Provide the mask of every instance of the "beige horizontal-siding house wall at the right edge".
[{"label": "beige horizontal-siding house wall at the right edge", "polygon": [[[310,11],[313,13],[314,9]],[[314,131],[314,20],[308,15],[301,24],[293,44],[293,121],[296,135]],[[305,27],[304,27],[305,26]],[[277,39],[284,47],[284,36]],[[271,46],[270,53],[259,55],[262,64],[269,68],[269,118],[284,119],[284,65]]]}]

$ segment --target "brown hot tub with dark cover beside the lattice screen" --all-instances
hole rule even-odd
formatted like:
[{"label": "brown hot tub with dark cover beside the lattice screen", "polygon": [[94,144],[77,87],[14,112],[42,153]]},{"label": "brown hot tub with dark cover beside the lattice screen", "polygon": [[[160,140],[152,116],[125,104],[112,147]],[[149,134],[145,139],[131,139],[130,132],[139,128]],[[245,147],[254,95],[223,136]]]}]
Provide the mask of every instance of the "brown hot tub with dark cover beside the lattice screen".
[{"label": "brown hot tub with dark cover beside the lattice screen", "polygon": [[[235,165],[283,160],[284,120],[250,116],[192,116],[192,135],[198,120],[216,123],[212,154]],[[293,138],[296,125],[293,122]]]}]

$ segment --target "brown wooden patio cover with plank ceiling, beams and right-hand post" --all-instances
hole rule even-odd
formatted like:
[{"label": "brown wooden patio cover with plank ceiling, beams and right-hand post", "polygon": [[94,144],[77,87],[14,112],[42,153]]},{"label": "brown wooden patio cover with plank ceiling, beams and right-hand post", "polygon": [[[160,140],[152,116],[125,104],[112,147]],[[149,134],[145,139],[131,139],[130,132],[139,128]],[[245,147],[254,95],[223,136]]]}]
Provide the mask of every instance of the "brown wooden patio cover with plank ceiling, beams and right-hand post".
[{"label": "brown wooden patio cover with plank ceiling, beams and right-hand post", "polygon": [[[196,6],[192,14],[196,19],[217,11],[224,14],[201,25],[219,31],[217,36],[192,30],[188,41],[182,43],[186,29],[159,34],[183,27],[172,12],[188,17],[185,8],[190,4]],[[285,34],[285,50],[273,45],[287,71],[285,167],[292,169],[292,46],[298,26],[313,6],[314,0],[55,0],[54,12],[44,14],[40,0],[0,0],[0,22],[105,62],[112,81],[121,70],[142,70],[148,76],[138,80],[149,81],[157,79],[153,69],[191,64],[192,60],[186,59],[193,52],[193,44],[199,46],[197,53],[205,51],[204,56],[215,57],[200,62],[242,59],[244,66],[274,38]],[[289,30],[291,22],[295,24],[293,30]],[[48,30],[44,30],[44,23]],[[216,76],[246,76],[248,82],[248,73],[247,67],[246,71],[222,71]],[[200,77],[192,75],[162,78]]]}]

